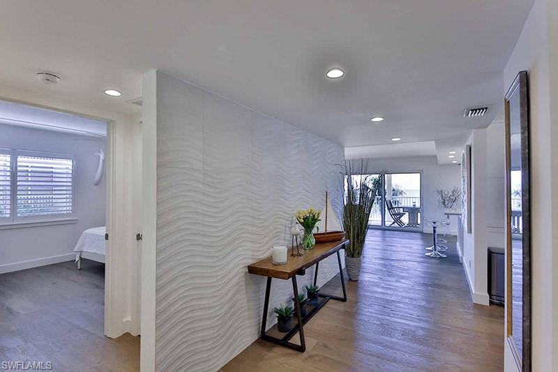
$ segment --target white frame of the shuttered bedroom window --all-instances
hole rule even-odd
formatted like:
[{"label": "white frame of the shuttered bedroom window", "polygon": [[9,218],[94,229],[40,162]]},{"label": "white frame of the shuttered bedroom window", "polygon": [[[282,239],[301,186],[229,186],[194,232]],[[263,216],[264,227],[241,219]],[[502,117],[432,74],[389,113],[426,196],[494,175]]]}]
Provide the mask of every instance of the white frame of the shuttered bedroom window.
[{"label": "white frame of the shuttered bedroom window", "polygon": [[[77,222],[77,203],[75,198],[76,163],[75,156],[46,151],[20,149],[0,149],[1,154],[10,155],[10,217],[0,218],[0,230],[5,228],[33,227],[38,225],[58,225]],[[17,216],[17,157],[36,156],[40,158],[59,158],[72,161],[72,212],[68,214],[43,214],[40,216]],[[6,220],[6,221],[3,221]]]}]

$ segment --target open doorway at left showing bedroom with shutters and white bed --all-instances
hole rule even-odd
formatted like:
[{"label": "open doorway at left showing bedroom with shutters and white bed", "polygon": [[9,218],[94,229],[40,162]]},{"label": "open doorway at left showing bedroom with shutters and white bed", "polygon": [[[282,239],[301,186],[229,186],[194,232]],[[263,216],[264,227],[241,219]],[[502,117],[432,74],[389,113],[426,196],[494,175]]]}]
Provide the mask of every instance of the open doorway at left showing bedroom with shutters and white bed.
[{"label": "open doorway at left showing bedroom with shutters and white bed", "polygon": [[[107,121],[0,101],[0,304],[9,308],[0,334],[10,359],[108,370],[113,351],[135,354],[120,345],[139,350],[133,336],[105,336],[109,137]],[[105,343],[102,361],[91,345]]]}]

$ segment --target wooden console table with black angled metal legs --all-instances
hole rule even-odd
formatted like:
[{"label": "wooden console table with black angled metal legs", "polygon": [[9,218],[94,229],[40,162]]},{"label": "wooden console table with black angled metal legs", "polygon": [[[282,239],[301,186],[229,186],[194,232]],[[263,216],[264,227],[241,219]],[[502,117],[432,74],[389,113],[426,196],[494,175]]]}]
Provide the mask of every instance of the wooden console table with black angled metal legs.
[{"label": "wooden console table with black angled metal legs", "polygon": [[[342,301],[342,302],[347,301],[347,290],[345,290],[345,278],[343,278],[341,256],[339,254],[340,249],[344,249],[347,244],[349,244],[349,241],[347,239],[316,244],[314,248],[311,249],[310,251],[304,251],[304,255],[301,257],[292,257],[289,253],[288,260],[285,265],[273,265],[273,263],[271,262],[271,257],[269,257],[248,266],[248,272],[250,274],[267,276],[266,297],[264,300],[264,315],[262,316],[262,329],[259,334],[259,337],[262,338],[262,340],[271,341],[278,345],[282,345],[287,348],[297,350],[299,352],[306,351],[306,341],[304,340],[303,325],[305,325],[306,322],[308,322],[308,320],[310,320],[310,318],[312,318],[312,316],[314,316],[315,313],[317,313],[319,309],[322,308],[326,304],[326,302],[328,302],[330,299],[335,299],[337,301]],[[318,304],[315,305],[314,308],[309,310],[305,317],[301,316],[301,306],[298,301],[295,301],[294,314],[296,318],[296,325],[292,327],[292,329],[289,332],[287,332],[284,336],[280,338],[268,334],[269,332],[266,332],[266,320],[267,320],[267,311],[269,308],[269,292],[271,290],[271,278],[278,278],[283,280],[292,279],[292,290],[294,295],[293,297],[295,299],[298,299],[299,287],[296,284],[296,276],[306,274],[306,269],[312,267],[313,265],[316,265],[316,270],[314,272],[314,285],[316,285],[316,281],[318,278],[319,262],[321,260],[324,260],[324,258],[333,255],[333,253],[337,253],[337,262],[339,265],[339,274],[341,276],[343,297],[325,295],[319,292]],[[299,336],[301,340],[300,345],[296,345],[295,343],[289,342],[290,339],[296,334],[296,332],[299,332]]]}]

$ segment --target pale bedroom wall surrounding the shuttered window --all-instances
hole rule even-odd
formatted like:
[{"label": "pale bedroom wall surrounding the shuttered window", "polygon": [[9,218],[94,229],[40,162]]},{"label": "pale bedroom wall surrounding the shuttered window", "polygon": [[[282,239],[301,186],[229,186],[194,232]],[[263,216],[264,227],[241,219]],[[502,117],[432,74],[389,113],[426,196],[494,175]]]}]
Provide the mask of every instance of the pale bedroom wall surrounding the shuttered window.
[{"label": "pale bedroom wall surrounding the shuttered window", "polygon": [[[0,148],[56,152],[75,156],[76,223],[0,230],[0,273],[73,260],[84,230],[105,225],[106,174],[93,185],[99,149],[106,138],[56,133],[0,124]],[[100,206],[100,207],[99,207]]]}]

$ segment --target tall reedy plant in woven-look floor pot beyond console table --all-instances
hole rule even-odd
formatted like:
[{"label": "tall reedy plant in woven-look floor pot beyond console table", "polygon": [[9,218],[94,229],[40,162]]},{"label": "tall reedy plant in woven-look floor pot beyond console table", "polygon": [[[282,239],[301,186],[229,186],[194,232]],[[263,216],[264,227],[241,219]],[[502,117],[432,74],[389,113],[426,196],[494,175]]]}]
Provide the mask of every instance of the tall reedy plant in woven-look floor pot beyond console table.
[{"label": "tall reedy plant in woven-look floor pot beyond console table", "polygon": [[382,185],[382,177],[368,174],[368,163],[347,161],[342,167],[345,179],[345,204],[343,206],[343,228],[349,244],[345,247],[345,266],[350,281],[358,281],[361,273],[362,252],[370,212]]}]

